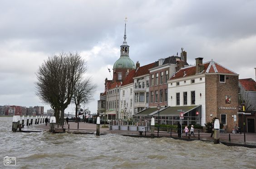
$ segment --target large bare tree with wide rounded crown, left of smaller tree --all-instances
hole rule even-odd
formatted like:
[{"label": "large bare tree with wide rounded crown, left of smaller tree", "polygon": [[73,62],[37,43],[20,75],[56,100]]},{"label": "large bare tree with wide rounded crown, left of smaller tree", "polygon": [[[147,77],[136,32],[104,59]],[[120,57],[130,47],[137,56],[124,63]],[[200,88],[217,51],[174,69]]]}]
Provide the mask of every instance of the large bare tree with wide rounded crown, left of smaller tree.
[{"label": "large bare tree with wide rounded crown, left of smaller tree", "polygon": [[[75,84],[87,70],[86,62],[76,53],[60,53],[48,57],[36,73],[36,94],[54,109],[57,124],[64,124],[64,110],[74,95]],[[60,122],[59,122],[59,111]]]}]

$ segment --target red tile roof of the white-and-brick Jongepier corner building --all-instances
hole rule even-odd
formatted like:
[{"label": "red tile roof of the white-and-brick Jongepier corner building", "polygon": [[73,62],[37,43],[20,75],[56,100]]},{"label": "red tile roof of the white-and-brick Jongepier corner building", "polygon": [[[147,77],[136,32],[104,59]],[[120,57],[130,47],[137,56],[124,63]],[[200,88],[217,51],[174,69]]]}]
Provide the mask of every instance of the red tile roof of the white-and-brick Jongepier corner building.
[{"label": "red tile roof of the white-and-brick Jongepier corner building", "polygon": [[[204,70],[202,71],[202,74],[204,74],[204,73],[224,73],[224,74],[237,75],[235,72],[228,70],[227,68],[225,68],[224,66],[221,66],[220,64],[218,64],[215,61],[209,61],[202,65],[204,66]],[[184,75],[184,72],[186,75]],[[187,76],[191,76],[191,75],[196,75],[196,66],[182,68],[181,70],[177,71],[170,78],[170,80],[187,77]]]}]

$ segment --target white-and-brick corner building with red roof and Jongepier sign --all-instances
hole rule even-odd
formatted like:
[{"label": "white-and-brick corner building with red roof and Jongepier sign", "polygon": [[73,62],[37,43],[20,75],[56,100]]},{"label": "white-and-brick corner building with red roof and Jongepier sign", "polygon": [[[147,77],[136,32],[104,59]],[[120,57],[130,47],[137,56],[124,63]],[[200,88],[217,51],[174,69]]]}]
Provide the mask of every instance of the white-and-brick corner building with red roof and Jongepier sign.
[{"label": "white-and-brick corner building with red roof and Jongepier sign", "polygon": [[184,122],[189,125],[193,118],[200,118],[204,126],[217,117],[226,131],[238,122],[238,74],[203,58],[196,58],[196,66],[182,68],[168,81],[168,106],[200,106],[199,115],[188,111]]}]

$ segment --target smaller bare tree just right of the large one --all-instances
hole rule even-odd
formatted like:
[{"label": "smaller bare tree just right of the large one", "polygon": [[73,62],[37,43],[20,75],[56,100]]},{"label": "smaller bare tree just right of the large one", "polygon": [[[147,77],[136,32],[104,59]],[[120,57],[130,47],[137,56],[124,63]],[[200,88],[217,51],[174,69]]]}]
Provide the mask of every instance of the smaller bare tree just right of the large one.
[{"label": "smaller bare tree just right of the large one", "polygon": [[92,80],[90,77],[86,78],[85,80],[79,80],[79,82],[75,85],[73,101],[75,103],[76,122],[78,121],[77,105],[81,103],[88,104],[90,101],[92,101],[96,88],[97,88],[97,85],[92,83]]}]

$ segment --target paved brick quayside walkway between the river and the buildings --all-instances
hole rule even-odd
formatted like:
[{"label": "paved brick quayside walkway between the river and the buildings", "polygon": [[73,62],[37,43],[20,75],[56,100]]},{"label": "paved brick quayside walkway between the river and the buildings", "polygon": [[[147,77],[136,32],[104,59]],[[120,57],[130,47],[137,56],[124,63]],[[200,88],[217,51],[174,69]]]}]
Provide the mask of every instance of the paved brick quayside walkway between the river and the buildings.
[{"label": "paved brick quayside walkway between the river and the buildings", "polygon": [[[64,128],[66,129],[66,132],[72,132],[72,133],[92,133],[96,132],[96,124],[92,123],[84,123],[79,122],[79,129],[77,129],[77,123],[75,122],[69,122],[69,129],[68,124],[64,124]],[[101,134],[108,134],[108,133],[115,133],[120,134],[124,136],[145,136],[145,132],[142,133],[142,135],[139,135],[140,133],[138,131],[118,131],[118,130],[109,130],[109,128],[103,128],[104,125],[100,125],[100,133]],[[108,126],[108,125],[106,125]],[[49,130],[49,123],[48,126],[45,126],[44,123],[35,125],[38,129],[43,130]],[[57,127],[57,130],[61,130],[61,127]],[[159,137],[165,136],[170,137],[172,135],[173,138],[182,139],[182,140],[198,140],[198,138],[202,141],[214,141],[214,137],[210,137],[211,133],[203,133],[200,132],[198,136],[198,131],[195,129],[195,136],[191,136],[190,138],[188,136],[185,136],[184,133],[182,133],[182,138],[178,138],[177,133],[172,132],[166,132],[166,131],[159,131]],[[146,132],[146,136],[150,137],[150,131]],[[155,131],[155,137],[158,136],[158,132]],[[244,142],[244,134],[232,134],[230,133],[231,141],[229,141],[229,133],[227,134],[220,134],[220,141],[224,143],[232,143],[232,144],[240,144],[240,145],[252,145],[256,147],[256,133],[246,133],[246,142]]]}]

